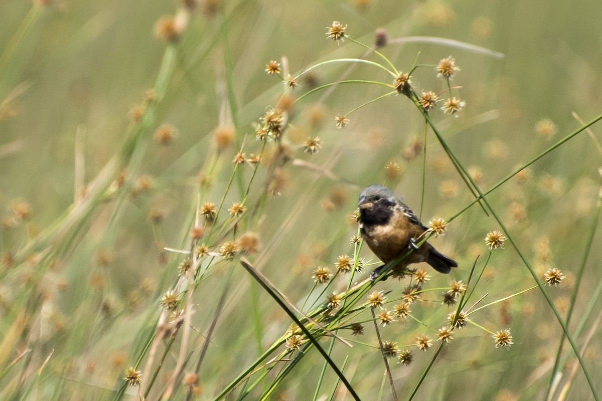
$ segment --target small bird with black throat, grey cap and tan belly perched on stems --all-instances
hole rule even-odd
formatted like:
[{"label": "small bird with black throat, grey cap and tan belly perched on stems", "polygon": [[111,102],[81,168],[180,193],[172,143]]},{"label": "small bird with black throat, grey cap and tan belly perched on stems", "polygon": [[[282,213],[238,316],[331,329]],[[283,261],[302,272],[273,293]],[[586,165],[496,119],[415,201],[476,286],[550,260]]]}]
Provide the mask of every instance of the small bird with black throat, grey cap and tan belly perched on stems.
[{"label": "small bird with black throat, grey cap and tan belly perched on stems", "polygon": [[[394,269],[403,269],[411,263],[426,262],[438,272],[449,273],[458,263],[439,253],[428,242],[420,247],[416,239],[428,230],[418,216],[386,186],[370,185],[359,194],[359,230],[371,251],[383,263],[397,259],[414,249]],[[370,274],[378,277],[380,268]]]}]

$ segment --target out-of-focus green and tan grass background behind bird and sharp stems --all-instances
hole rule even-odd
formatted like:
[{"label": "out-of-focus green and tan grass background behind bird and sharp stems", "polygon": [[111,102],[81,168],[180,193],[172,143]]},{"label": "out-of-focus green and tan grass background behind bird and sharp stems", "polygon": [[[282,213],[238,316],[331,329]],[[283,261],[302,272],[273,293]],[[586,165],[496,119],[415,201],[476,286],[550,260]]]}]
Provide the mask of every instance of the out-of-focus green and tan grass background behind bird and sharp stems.
[{"label": "out-of-focus green and tan grass background behind bird and sharp stems", "polygon": [[[340,79],[391,84],[391,76],[365,64],[325,64],[300,76],[292,91],[265,73],[271,60],[282,64],[286,79],[321,61],[362,57],[367,50],[351,40],[326,40],[324,27],[333,20],[368,46],[376,29],[385,29],[391,43],[379,51],[402,71],[414,60],[436,65],[455,58],[453,94],[466,106],[458,118],[437,107],[432,120],[483,191],[602,110],[597,1],[580,7],[560,1],[188,3],[0,2],[0,399],[104,400],[124,391],[123,399],[137,399],[147,387],[123,380],[136,366],[143,384],[153,384],[149,400],[169,397],[172,376],[172,399],[186,399],[190,390],[194,399],[212,400],[292,323],[240,265],[240,255],[222,259],[224,242],[240,246],[244,233],[256,237],[245,256],[253,266],[298,308],[306,298],[307,305],[320,305],[352,284],[338,276],[322,292],[312,272],[318,266],[334,272],[339,256],[358,252],[349,239],[357,234],[352,213],[361,188],[386,180],[424,222],[448,219],[474,200],[432,130],[424,143],[424,117],[405,96],[380,99],[350,114],[343,129],[335,126],[335,116],[389,91],[376,85],[315,91],[287,109],[282,141],[256,140],[261,117],[288,96]],[[368,58],[388,67],[377,55]],[[417,69],[412,86],[447,90],[434,67]],[[319,152],[303,152],[306,138],[316,136]],[[561,286],[546,290],[560,316],[566,318],[575,298],[568,328],[595,396],[564,341],[551,399],[602,393],[598,141],[594,124],[487,197],[541,280],[550,268],[566,275]],[[261,153],[262,161],[235,165],[239,152],[247,159]],[[232,203],[243,200],[241,218],[229,215]],[[223,204],[213,228],[198,213],[205,203]],[[204,231],[196,232],[199,240],[191,240],[195,226]],[[426,288],[466,283],[481,255],[479,273],[492,230],[500,225],[478,205],[450,222],[445,236],[431,241],[460,267],[451,277],[430,271]],[[178,278],[178,266],[205,242],[212,254],[194,280]],[[359,256],[377,262],[367,248]],[[407,284],[389,279],[374,290],[399,299]],[[506,242],[491,254],[469,306],[535,284]],[[190,324],[170,326],[160,301],[169,289],[191,288]],[[486,330],[511,329],[509,349],[496,348],[490,334],[470,325],[454,332],[428,370],[434,350],[421,352],[414,341],[425,333],[435,339],[456,311],[441,305],[441,292],[425,293],[412,307],[422,324],[396,319],[379,329],[383,340],[414,352],[409,366],[390,360],[399,399],[410,397],[426,370],[415,399],[544,400],[563,330],[542,293],[533,289],[474,314]],[[362,311],[354,318],[369,322],[369,308]],[[340,368],[346,361],[343,373],[362,400],[391,399],[373,325],[364,324],[363,335],[338,331],[360,343],[335,342],[332,360]],[[286,358],[291,355],[299,354]],[[197,363],[196,381],[190,375]],[[237,399],[267,372],[247,396],[260,399],[285,364],[255,372],[224,399]],[[323,364],[309,350],[267,399],[312,399]],[[327,368],[321,399],[335,385]],[[334,394],[352,399],[343,385]]]}]

